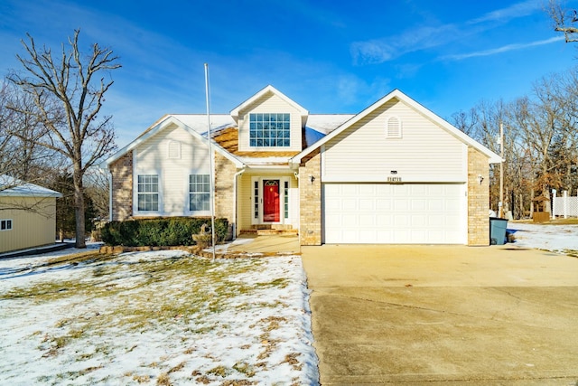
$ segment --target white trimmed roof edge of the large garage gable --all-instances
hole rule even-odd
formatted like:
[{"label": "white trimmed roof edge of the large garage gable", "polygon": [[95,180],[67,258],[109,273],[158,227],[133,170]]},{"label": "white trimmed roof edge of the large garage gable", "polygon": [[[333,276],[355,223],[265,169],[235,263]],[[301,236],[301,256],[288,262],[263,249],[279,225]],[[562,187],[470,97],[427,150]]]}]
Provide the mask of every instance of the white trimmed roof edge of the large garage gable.
[{"label": "white trimmed roof edge of the large garage gable", "polygon": [[442,127],[445,131],[447,131],[453,137],[458,138],[459,140],[461,140],[461,142],[463,142],[464,144],[466,144],[468,146],[474,147],[475,149],[479,150],[480,153],[482,153],[483,155],[487,155],[489,157],[489,163],[490,164],[498,164],[499,162],[502,161],[502,158],[499,155],[497,155],[496,153],[489,150],[488,147],[481,145],[480,142],[469,137],[468,135],[461,132],[456,127],[453,127],[449,122],[447,122],[443,118],[440,118],[439,116],[434,114],[433,111],[431,111],[427,108],[424,108],[424,106],[417,103],[414,99],[411,99],[408,96],[406,96],[406,94],[401,92],[399,89],[394,89],[393,91],[388,93],[385,97],[383,97],[382,99],[379,99],[373,105],[364,109],[358,115],[354,116],[353,118],[350,118],[350,120],[344,122],[342,125],[340,125],[340,127],[337,127],[335,130],[331,131],[331,133],[329,133],[327,136],[322,137],[321,140],[315,142],[312,146],[309,146],[306,149],[303,149],[303,151],[301,153],[299,153],[298,155],[295,155],[290,160],[290,163],[291,164],[300,164],[301,160],[303,159],[304,156],[311,154],[313,150],[315,150],[315,149],[319,148],[320,146],[326,144],[327,142],[331,141],[332,138],[339,136],[340,133],[342,133],[343,131],[352,127],[353,125],[358,123],[361,119],[366,118],[376,108],[383,106],[391,99],[397,99],[399,101],[406,103],[410,108],[414,108],[418,113],[422,114],[425,118],[432,120],[433,123],[435,123],[439,127]]}]

